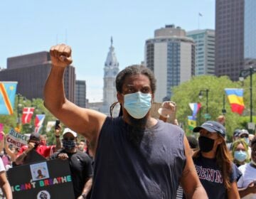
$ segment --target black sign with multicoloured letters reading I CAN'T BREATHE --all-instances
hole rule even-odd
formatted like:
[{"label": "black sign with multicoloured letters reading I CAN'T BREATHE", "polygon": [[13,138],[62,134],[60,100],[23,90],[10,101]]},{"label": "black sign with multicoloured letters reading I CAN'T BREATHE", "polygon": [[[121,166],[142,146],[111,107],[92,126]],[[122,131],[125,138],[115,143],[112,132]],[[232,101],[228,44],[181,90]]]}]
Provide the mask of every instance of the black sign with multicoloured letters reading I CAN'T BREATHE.
[{"label": "black sign with multicoloured letters reading I CAN'T BREATHE", "polygon": [[68,160],[16,166],[7,176],[14,199],[75,199]]}]

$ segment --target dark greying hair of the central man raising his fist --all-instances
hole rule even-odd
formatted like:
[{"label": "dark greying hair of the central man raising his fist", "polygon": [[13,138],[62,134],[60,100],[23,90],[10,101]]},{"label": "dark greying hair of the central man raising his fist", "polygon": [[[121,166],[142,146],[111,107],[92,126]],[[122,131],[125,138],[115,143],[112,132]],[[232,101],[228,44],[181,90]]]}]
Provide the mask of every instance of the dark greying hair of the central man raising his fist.
[{"label": "dark greying hair of the central man raising his fist", "polygon": [[143,65],[130,65],[117,74],[115,81],[117,92],[122,93],[122,85],[124,84],[126,77],[138,74],[146,75],[146,77],[149,77],[151,91],[154,94],[156,91],[156,78],[154,77],[154,73]]}]

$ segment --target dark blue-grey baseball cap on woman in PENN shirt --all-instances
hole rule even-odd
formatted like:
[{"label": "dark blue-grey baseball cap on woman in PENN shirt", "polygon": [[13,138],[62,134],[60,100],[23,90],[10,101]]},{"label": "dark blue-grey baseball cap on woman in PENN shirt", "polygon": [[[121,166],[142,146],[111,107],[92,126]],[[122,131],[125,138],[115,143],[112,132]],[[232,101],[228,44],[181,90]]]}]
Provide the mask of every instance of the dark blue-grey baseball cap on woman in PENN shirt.
[{"label": "dark blue-grey baseball cap on woman in PENN shirt", "polygon": [[217,132],[221,136],[225,137],[225,127],[223,127],[223,125],[219,122],[207,121],[203,123],[201,126],[195,127],[193,129],[193,132],[199,132],[201,129],[206,129],[206,131],[209,131],[211,133]]}]

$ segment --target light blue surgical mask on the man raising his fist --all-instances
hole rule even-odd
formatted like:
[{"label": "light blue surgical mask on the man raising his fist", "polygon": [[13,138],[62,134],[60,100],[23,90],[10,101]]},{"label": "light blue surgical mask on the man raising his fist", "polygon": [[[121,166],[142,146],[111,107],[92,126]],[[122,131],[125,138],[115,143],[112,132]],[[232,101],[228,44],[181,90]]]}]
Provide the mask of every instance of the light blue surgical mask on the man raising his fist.
[{"label": "light blue surgical mask on the man raising his fist", "polygon": [[124,95],[124,109],[135,119],[142,119],[151,108],[151,94],[134,92]]}]

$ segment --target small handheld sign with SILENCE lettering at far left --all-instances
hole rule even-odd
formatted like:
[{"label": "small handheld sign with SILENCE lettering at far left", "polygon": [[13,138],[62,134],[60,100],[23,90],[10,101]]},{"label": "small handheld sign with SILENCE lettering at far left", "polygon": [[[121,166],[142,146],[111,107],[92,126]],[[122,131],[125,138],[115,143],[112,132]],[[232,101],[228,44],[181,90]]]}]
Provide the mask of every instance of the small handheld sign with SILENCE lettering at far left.
[{"label": "small handheld sign with SILENCE lettering at far left", "polygon": [[20,149],[23,145],[27,145],[28,140],[29,136],[17,133],[16,131],[14,131],[14,129],[11,129],[6,137],[6,141],[9,144],[16,146],[18,149]]}]

